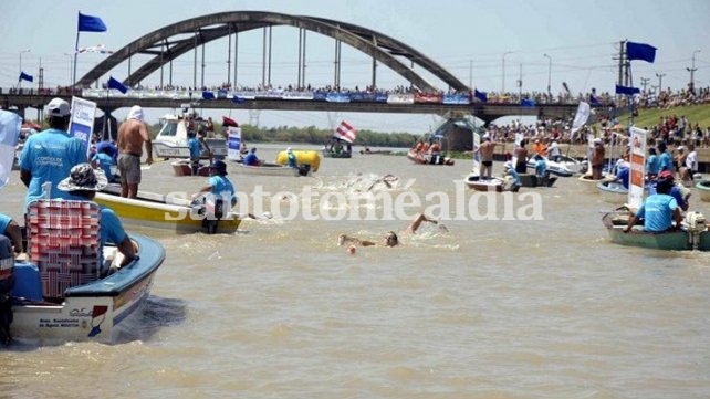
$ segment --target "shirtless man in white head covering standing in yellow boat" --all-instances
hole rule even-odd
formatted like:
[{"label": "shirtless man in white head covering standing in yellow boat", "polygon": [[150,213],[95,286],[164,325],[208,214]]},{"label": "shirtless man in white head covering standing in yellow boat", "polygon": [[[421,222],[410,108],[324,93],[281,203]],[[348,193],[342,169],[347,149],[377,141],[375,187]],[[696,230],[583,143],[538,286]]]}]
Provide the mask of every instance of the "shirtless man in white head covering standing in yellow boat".
[{"label": "shirtless man in white head covering standing in yellow boat", "polygon": [[121,197],[136,198],[140,183],[140,157],[146,145],[146,164],[153,164],[153,144],[148,128],[143,122],[143,108],[134,105],[126,120],[118,127],[118,171],[121,172]]}]

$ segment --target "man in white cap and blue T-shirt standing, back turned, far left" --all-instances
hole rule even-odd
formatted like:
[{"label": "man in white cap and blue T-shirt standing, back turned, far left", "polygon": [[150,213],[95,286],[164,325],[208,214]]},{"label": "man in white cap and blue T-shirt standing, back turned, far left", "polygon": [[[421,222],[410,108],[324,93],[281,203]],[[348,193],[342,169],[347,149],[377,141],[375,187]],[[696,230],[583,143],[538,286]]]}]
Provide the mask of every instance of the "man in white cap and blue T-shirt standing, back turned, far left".
[{"label": "man in white cap and blue T-shirt standing, back turned, far left", "polygon": [[45,108],[49,129],[30,136],[20,155],[20,180],[28,188],[24,208],[28,203],[44,197],[42,185],[50,182],[50,198],[65,198],[69,195],[56,189],[74,165],[86,162],[84,143],[70,136],[66,129],[71,109],[62,98],[52,99]]}]

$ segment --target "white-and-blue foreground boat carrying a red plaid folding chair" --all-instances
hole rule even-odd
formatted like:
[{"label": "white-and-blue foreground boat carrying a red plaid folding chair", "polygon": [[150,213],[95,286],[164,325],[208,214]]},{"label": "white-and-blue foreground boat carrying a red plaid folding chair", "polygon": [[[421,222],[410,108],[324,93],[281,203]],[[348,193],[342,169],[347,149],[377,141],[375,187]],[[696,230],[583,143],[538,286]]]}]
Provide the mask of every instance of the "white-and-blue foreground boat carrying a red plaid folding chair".
[{"label": "white-and-blue foreground boat carrying a red plaid folding chair", "polygon": [[[65,203],[46,206],[58,202]],[[82,208],[79,214],[77,203]],[[36,208],[31,206],[30,260],[15,261],[12,267],[12,322],[8,328],[12,339],[40,345],[113,343],[127,330],[126,318],[139,313],[165,260],[165,249],[153,239],[129,233],[138,258],[109,273],[123,255],[115,246],[105,246],[104,262],[100,262],[98,212],[98,206],[88,201],[38,201]]]}]

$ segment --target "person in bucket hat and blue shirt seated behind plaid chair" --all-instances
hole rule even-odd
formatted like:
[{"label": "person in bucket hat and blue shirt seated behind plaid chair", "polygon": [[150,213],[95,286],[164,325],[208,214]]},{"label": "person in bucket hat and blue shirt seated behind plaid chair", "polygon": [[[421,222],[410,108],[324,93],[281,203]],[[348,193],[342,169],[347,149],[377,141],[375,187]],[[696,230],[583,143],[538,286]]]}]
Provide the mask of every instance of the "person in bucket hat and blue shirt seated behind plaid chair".
[{"label": "person in bucket hat and blue shirt seated behind plaid chair", "polygon": [[[108,183],[103,171],[94,170],[88,164],[80,164],[72,168],[70,175],[56,185],[61,191],[71,193],[75,200],[93,201],[96,191],[101,191]],[[101,263],[103,265],[103,248],[107,243],[114,243],[124,255],[121,266],[125,266],[137,259],[136,248],[123,228],[121,219],[116,213],[106,207],[101,206]]]}]

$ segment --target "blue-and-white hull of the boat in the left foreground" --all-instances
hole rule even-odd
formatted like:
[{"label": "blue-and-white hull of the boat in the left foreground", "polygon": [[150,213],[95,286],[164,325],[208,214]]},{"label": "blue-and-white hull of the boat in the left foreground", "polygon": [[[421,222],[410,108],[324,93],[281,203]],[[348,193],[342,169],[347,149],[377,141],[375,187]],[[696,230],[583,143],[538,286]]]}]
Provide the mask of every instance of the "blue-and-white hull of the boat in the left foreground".
[{"label": "blue-and-white hull of the boat in the left foreground", "polygon": [[[126,318],[139,313],[145,304],[165,260],[165,249],[157,241],[140,234],[130,237],[138,245],[137,261],[107,277],[66,290],[63,303],[14,301],[10,325],[13,339],[39,344],[115,342],[126,329]],[[15,270],[27,267],[35,266],[15,264]]]}]

